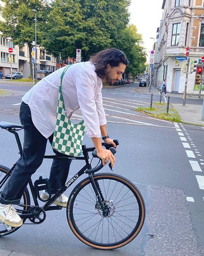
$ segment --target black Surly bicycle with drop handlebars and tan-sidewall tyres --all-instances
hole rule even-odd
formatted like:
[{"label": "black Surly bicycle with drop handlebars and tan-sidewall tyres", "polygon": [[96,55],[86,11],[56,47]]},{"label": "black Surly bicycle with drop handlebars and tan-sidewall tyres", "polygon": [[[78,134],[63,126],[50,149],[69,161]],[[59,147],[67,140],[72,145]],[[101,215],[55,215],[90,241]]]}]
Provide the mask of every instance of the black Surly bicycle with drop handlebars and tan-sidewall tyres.
[{"label": "black Surly bicycle with drop handlebars and tan-sidewall tyres", "polygon": [[[22,156],[22,145],[17,131],[23,129],[22,125],[0,122],[0,127],[15,135]],[[114,143],[118,144],[117,140]],[[109,144],[102,143],[106,149],[113,154],[116,149]],[[79,182],[72,190],[66,207],[68,224],[83,243],[98,249],[115,249],[130,243],[142,229],[145,220],[145,204],[136,186],[128,179],[113,174],[95,174],[102,169],[102,160],[96,167],[92,168],[89,160],[89,152],[97,157],[95,147],[82,146],[83,157],[46,155],[44,158],[66,158],[85,160],[86,165],[76,173],[53,197],[49,192],[49,180],[40,177],[34,183],[30,179],[29,187],[34,205],[30,205],[28,188],[21,198],[19,205],[15,205],[19,216],[25,223],[29,219],[33,224],[40,224],[46,218],[46,211],[62,209],[61,206],[52,206],[52,203],[71,186],[82,174],[87,177]],[[93,158],[92,158],[93,159]],[[6,180],[12,173],[12,168],[0,165],[0,191],[5,186]],[[109,164],[111,168],[111,165]],[[47,189],[48,201],[40,198],[40,191]],[[38,200],[45,202],[40,207]],[[2,223],[2,222],[1,222]],[[6,236],[18,230],[19,227],[10,227],[2,223],[0,225],[0,236]]]}]

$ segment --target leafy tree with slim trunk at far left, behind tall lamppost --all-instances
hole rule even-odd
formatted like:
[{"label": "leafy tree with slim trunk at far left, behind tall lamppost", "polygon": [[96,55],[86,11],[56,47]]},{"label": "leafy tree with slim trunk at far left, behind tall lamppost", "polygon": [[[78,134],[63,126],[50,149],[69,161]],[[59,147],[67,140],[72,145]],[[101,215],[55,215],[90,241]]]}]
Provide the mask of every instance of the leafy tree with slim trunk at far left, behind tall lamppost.
[{"label": "leafy tree with slim trunk at far left, behind tall lamppost", "polygon": [[48,5],[42,0],[3,0],[4,6],[0,11],[4,21],[0,21],[2,36],[11,38],[15,45],[28,45],[30,70],[32,74],[31,51],[35,40],[35,13],[37,10],[37,44],[40,44],[46,17],[49,12]]}]

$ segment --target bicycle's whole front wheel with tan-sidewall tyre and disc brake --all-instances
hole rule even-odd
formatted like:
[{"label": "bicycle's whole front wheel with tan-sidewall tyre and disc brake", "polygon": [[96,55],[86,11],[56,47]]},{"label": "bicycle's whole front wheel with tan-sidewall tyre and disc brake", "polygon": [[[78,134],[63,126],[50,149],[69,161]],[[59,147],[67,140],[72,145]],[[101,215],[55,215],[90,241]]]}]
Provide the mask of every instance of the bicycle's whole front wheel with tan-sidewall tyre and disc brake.
[{"label": "bicycle's whole front wheel with tan-sidewall tyre and disc brake", "polygon": [[93,176],[108,207],[104,216],[90,179],[83,179],[71,192],[67,218],[72,232],[83,243],[110,250],[130,243],[145,220],[145,204],[136,186],[122,176],[101,173]]}]

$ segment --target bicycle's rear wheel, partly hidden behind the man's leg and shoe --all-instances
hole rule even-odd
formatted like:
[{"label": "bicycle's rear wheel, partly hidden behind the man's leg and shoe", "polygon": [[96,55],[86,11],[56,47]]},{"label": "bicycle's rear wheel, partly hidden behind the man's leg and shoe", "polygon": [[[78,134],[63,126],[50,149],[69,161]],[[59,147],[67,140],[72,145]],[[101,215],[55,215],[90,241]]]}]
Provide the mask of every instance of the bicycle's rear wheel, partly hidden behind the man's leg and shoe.
[{"label": "bicycle's rear wheel, partly hidden behind the man's leg and shoe", "polygon": [[[6,166],[2,166],[0,165],[0,180],[2,180],[6,174],[9,172],[9,168],[7,168]],[[5,186],[5,184],[3,185],[3,187]],[[1,188],[1,191],[3,190],[3,187]],[[14,208],[16,209],[17,212],[21,213],[22,210],[28,210],[28,205],[31,204],[30,201],[30,195],[28,192],[28,189],[25,189],[25,192],[23,193],[23,196],[21,198],[21,202],[20,204],[22,205],[15,205]],[[23,223],[26,221],[26,219],[23,219]],[[5,223],[3,223],[0,220],[0,237],[9,235],[13,232],[15,232],[17,229],[19,229],[20,227],[10,227],[8,225],[6,225]]]}]

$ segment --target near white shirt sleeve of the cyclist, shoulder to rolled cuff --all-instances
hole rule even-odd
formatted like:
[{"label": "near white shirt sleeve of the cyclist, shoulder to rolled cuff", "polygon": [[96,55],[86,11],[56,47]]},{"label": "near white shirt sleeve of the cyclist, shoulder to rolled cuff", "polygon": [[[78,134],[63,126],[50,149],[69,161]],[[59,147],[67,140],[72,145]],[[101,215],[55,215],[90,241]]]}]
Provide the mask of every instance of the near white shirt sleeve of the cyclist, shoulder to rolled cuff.
[{"label": "near white shirt sleeve of the cyclist, shoulder to rolled cuff", "polygon": [[100,138],[100,122],[95,102],[96,82],[92,74],[81,72],[74,80],[77,89],[77,99],[82,112],[83,120],[86,123],[87,136]]}]

